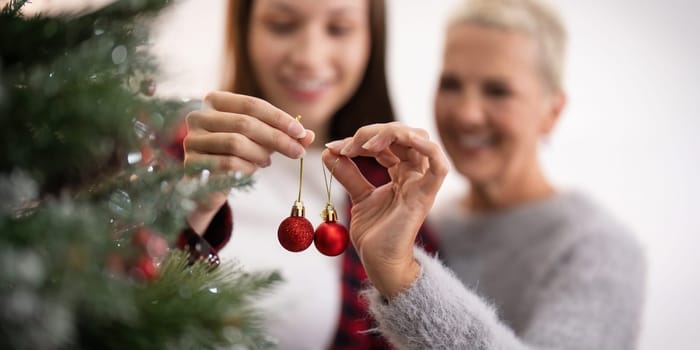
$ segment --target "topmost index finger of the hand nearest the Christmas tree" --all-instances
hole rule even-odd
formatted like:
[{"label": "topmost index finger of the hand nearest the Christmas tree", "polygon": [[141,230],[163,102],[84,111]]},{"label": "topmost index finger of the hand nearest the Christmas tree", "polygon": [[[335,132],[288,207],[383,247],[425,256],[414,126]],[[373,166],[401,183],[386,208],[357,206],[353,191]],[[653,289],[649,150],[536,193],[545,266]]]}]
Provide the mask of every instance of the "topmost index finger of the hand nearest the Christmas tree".
[{"label": "topmost index finger of the hand nearest the Christmas tree", "polygon": [[299,121],[262,99],[215,91],[207,94],[204,102],[217,111],[255,116],[292,138],[301,139],[306,136],[306,129]]}]

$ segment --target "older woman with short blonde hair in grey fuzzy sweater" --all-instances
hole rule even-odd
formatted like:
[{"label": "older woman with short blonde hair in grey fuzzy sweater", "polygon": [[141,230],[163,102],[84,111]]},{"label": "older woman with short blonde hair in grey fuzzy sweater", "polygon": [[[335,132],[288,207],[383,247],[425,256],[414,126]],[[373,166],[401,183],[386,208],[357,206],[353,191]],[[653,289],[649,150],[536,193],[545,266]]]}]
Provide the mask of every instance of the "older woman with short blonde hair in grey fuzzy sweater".
[{"label": "older woman with short blonde hair in grey fuzzy sweater", "polygon": [[435,120],[470,189],[436,213],[447,267],[412,244],[444,171],[424,135],[375,125],[329,145],[329,166],[375,156],[393,176],[374,188],[348,162],[335,171],[371,313],[396,348],[636,347],[641,249],[588,197],[555,188],[538,159],[566,101],[565,40],[536,0],[467,1],[452,18]]}]

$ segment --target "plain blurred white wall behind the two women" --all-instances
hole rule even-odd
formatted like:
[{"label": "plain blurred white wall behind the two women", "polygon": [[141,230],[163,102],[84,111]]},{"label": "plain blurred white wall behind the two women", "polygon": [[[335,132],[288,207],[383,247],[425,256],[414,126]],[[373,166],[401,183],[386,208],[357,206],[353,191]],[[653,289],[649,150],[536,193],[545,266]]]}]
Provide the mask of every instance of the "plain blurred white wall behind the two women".
[{"label": "plain blurred white wall behind the two women", "polygon": [[[3,3],[6,1],[0,1]],[[27,9],[109,0],[34,0]],[[458,0],[389,2],[389,79],[402,121],[427,129],[444,23]],[[569,104],[543,142],[547,171],[610,209],[649,260],[641,349],[700,343],[700,1],[550,0],[569,31]],[[154,23],[158,94],[200,98],[219,83],[223,0],[180,0]],[[456,177],[442,193],[461,189]]]}]

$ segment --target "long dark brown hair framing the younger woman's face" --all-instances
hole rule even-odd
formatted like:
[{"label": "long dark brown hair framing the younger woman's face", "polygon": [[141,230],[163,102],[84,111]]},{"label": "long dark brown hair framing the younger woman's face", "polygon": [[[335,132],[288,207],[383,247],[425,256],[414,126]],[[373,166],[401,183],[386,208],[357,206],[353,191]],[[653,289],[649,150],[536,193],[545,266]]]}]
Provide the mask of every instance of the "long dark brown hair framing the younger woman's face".
[{"label": "long dark brown hair framing the younger woman's face", "polygon": [[[328,137],[352,136],[368,124],[394,121],[386,80],[386,6],[384,0],[369,0],[370,56],[355,94],[333,116]],[[224,46],[222,89],[262,97],[248,55],[253,0],[229,0]]]}]

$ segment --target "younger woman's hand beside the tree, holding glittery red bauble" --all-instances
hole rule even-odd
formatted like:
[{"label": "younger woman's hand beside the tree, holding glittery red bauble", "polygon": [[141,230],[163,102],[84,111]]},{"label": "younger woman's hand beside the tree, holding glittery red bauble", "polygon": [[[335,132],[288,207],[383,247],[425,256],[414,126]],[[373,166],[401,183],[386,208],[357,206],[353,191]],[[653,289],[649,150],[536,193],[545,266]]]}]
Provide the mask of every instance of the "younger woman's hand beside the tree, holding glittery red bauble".
[{"label": "younger woman's hand beside the tree, holding glittery red bauble", "polygon": [[[255,97],[212,92],[204,106],[187,115],[185,166],[205,164],[213,173],[250,175],[269,166],[273,152],[303,156],[314,139],[292,116]],[[228,192],[212,193],[188,216],[195,232],[206,230]]]}]

